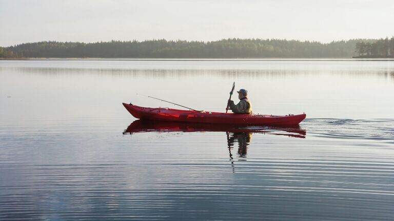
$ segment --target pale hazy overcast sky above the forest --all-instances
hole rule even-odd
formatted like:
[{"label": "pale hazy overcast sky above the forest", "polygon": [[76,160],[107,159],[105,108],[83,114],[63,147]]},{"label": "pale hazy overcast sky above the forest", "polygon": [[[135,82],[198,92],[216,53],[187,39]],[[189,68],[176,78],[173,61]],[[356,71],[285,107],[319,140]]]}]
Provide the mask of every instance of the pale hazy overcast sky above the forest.
[{"label": "pale hazy overcast sky above the forest", "polygon": [[36,41],[394,36],[386,0],[0,0],[0,47]]}]

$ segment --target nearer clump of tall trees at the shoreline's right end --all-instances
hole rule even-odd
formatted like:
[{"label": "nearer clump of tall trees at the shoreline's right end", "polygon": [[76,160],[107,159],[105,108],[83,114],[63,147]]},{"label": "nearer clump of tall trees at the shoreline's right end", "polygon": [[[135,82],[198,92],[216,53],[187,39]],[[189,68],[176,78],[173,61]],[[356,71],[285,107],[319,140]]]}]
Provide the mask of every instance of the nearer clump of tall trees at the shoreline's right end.
[{"label": "nearer clump of tall trees at the shoreline's right end", "polygon": [[358,57],[394,57],[394,37],[388,39],[381,38],[375,42],[359,41],[356,43],[356,50]]}]

